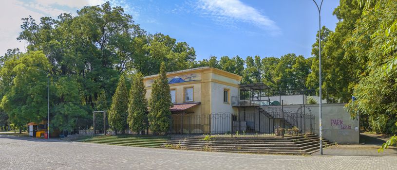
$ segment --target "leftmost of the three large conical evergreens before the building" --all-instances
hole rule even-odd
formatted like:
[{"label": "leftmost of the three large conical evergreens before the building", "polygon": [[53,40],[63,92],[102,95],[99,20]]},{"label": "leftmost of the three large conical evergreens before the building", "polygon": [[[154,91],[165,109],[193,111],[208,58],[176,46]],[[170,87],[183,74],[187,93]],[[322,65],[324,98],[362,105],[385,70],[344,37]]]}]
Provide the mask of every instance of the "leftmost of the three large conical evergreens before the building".
[{"label": "leftmost of the three large conical evergreens before the building", "polygon": [[109,125],[115,133],[123,131],[127,126],[128,91],[125,84],[124,75],[121,75],[109,110]]}]

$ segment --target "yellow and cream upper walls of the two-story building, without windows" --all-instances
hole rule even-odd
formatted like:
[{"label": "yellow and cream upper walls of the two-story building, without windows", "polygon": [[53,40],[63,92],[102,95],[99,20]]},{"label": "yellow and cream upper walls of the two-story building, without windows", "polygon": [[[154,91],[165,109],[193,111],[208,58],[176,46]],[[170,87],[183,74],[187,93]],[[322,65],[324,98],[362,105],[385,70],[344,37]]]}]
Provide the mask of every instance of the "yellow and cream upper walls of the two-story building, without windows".
[{"label": "yellow and cream upper walls of the two-story building, without windows", "polygon": [[[230,102],[231,96],[238,95],[241,76],[216,68],[202,68],[168,73],[167,77],[170,80],[173,77],[186,77],[186,75],[194,75],[194,81],[169,84],[171,90],[176,90],[176,103],[185,103],[185,89],[193,87],[193,102],[201,102],[201,104],[186,110],[186,112],[195,114],[211,114],[222,111],[236,112],[236,109],[231,107]],[[151,83],[157,77],[158,75],[153,75],[144,78],[147,90],[146,99],[148,100],[151,96]],[[229,104],[223,103],[224,87],[230,89]],[[212,101],[215,98],[216,101]]]}]

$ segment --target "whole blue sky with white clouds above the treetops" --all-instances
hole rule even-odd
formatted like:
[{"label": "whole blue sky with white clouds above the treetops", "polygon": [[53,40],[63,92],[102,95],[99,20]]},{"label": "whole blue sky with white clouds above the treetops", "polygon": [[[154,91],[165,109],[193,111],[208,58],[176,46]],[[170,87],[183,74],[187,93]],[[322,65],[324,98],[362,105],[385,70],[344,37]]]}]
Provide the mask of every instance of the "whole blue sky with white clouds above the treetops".
[{"label": "whole blue sky with white clouds above the treetops", "polygon": [[[316,0],[320,2],[321,0]],[[87,5],[105,0],[2,0],[0,1],[0,55],[7,49],[25,51],[19,42],[21,18],[76,16]],[[287,53],[311,57],[319,29],[319,15],[312,0],[110,0],[132,15],[148,33],[170,35],[187,42],[196,59],[210,56],[281,57]],[[334,31],[332,15],[338,0],[324,0],[321,25]]]}]

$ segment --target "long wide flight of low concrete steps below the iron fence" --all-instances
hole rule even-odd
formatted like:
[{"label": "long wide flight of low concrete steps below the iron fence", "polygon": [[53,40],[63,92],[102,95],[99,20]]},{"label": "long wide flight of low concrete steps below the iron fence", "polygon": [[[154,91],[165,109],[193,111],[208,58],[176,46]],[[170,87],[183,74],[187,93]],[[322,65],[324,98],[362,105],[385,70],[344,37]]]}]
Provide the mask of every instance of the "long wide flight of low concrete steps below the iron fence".
[{"label": "long wide flight of low concrete steps below the iron fence", "polygon": [[[171,148],[197,151],[215,151],[228,153],[264,153],[264,154],[311,154],[319,150],[319,136],[88,136],[73,135],[62,138],[67,141],[91,142],[121,146],[151,148]],[[333,145],[323,140],[323,146]]]}]

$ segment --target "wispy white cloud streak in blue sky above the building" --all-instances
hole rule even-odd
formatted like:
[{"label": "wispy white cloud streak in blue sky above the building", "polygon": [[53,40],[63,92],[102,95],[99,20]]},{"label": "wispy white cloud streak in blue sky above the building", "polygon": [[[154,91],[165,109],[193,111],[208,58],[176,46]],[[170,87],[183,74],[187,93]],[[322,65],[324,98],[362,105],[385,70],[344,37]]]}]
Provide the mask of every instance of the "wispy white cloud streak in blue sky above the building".
[{"label": "wispy white cloud streak in blue sky above the building", "polygon": [[273,20],[240,0],[199,0],[195,5],[201,15],[218,24],[236,27],[236,22],[246,22],[268,30],[270,34],[280,34]]}]

